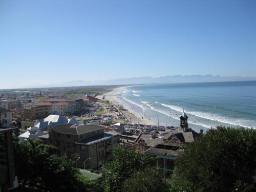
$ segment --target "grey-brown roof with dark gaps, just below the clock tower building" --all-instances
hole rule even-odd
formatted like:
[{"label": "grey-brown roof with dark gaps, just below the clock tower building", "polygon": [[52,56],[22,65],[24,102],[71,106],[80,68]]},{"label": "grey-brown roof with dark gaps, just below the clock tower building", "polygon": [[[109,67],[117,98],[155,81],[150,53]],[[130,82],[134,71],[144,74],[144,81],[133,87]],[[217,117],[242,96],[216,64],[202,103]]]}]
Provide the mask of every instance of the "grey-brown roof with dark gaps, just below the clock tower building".
[{"label": "grey-brown roof with dark gaps, just below the clock tower building", "polygon": [[181,153],[181,150],[180,146],[177,144],[160,143],[155,144],[154,146],[148,148],[148,150],[146,150],[145,153],[152,155],[178,157]]}]

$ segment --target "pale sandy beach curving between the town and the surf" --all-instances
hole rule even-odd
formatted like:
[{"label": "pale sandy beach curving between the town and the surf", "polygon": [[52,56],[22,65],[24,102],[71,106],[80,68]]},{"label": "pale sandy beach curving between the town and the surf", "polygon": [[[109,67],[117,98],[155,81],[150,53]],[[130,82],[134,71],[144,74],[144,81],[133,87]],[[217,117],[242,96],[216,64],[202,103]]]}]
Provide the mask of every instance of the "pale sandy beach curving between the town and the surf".
[{"label": "pale sandy beach curving between the town and the surf", "polygon": [[[128,122],[134,123],[134,124],[146,124],[146,125],[157,125],[156,122],[147,119],[146,117],[142,117],[138,112],[132,110],[129,108],[129,106],[125,105],[124,103],[120,102],[116,98],[116,94],[118,93],[119,89],[121,88],[115,88],[114,90],[105,93],[105,100],[109,100],[113,105],[119,106],[121,105],[124,110],[121,111],[121,113],[124,115],[124,117],[127,119]],[[98,95],[97,98],[102,99],[102,95]]]}]

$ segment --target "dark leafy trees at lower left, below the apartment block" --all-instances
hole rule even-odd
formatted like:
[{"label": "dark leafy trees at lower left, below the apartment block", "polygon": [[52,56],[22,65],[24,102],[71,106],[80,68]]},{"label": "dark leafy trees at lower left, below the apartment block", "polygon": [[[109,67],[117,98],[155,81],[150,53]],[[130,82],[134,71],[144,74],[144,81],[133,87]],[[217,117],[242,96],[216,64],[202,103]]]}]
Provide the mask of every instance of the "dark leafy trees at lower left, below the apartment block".
[{"label": "dark leafy trees at lower left, below the apartment block", "polygon": [[24,191],[87,191],[90,181],[74,168],[74,162],[57,156],[57,148],[41,140],[15,142],[19,188]]}]

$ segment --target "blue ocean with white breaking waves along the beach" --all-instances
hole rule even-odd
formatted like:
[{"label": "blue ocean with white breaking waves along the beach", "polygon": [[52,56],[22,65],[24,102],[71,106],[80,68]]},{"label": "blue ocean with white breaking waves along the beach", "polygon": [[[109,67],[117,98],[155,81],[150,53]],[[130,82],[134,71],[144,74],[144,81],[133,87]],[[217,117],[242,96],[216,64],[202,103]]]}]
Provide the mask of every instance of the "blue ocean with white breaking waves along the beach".
[{"label": "blue ocean with white breaking waves along the beach", "polygon": [[217,125],[256,129],[256,81],[144,84],[120,88],[116,99],[160,125],[207,130]]}]

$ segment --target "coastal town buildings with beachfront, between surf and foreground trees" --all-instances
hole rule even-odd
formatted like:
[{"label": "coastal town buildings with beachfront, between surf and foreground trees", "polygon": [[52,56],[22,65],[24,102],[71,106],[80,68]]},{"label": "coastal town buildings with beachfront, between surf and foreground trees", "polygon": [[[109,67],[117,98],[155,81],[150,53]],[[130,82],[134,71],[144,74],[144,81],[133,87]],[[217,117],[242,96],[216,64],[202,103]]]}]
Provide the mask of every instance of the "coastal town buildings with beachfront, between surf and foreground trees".
[{"label": "coastal town buildings with beachfront, between surf and foreground trees", "polygon": [[180,127],[159,126],[125,109],[112,94],[68,98],[44,90],[2,93],[1,126],[18,127],[20,142],[41,139],[57,146],[80,169],[100,170],[113,158],[114,147],[127,147],[159,157],[156,163],[171,175],[177,147],[199,135],[189,129],[187,115],[181,114]]}]

